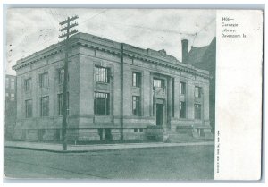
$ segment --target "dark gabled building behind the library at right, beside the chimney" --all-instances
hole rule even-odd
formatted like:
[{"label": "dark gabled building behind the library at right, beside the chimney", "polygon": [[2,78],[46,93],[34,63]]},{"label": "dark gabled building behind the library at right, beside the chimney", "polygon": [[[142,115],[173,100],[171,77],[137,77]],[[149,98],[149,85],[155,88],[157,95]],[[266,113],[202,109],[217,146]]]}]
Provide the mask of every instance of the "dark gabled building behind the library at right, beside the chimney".
[{"label": "dark gabled building behind the library at right, beside the chimney", "polygon": [[209,84],[209,118],[213,128],[215,126],[215,81],[216,81],[216,38],[205,47],[191,47],[186,64],[191,64],[199,69],[206,70],[211,76]]}]

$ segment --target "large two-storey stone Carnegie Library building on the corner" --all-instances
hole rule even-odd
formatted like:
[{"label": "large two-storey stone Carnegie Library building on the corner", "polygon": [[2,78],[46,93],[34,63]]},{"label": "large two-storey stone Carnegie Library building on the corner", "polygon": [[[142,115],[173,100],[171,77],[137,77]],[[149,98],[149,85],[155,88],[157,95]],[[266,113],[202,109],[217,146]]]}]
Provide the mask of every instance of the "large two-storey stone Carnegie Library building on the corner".
[{"label": "large two-storey stone Carnegie Library building on the corner", "polygon": [[[207,71],[164,50],[85,33],[71,37],[70,46],[68,140],[212,138]],[[13,66],[20,92],[17,140],[61,139],[63,51],[61,42]]]}]

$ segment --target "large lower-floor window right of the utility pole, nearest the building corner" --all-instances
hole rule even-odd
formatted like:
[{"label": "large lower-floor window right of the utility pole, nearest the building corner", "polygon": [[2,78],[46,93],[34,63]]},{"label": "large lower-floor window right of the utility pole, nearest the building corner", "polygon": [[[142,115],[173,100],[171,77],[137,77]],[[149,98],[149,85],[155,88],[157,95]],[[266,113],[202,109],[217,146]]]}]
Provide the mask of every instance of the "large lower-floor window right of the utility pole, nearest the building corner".
[{"label": "large lower-floor window right of the utility pole, nearest the building corner", "polygon": [[110,115],[110,94],[95,92],[94,97],[94,114]]}]

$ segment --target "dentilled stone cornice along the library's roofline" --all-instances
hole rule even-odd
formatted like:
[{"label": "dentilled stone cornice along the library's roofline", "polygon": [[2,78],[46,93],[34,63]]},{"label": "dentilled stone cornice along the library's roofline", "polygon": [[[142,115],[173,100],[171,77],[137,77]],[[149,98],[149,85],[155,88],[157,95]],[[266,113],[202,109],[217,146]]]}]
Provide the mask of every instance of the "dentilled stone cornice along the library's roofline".
[{"label": "dentilled stone cornice along the library's roofline", "polygon": [[[80,34],[82,34],[82,33],[80,33]],[[92,35],[89,35],[89,36],[92,36]],[[110,41],[110,40],[107,40],[107,41]],[[111,41],[111,42],[113,42],[113,41]],[[203,77],[205,79],[210,79],[209,73],[207,71],[197,69],[196,67],[194,67],[192,65],[182,64],[178,60],[169,61],[168,59],[165,59],[164,57],[161,58],[160,56],[147,55],[146,51],[152,50],[152,49],[141,49],[138,47],[133,47],[133,50],[132,50],[132,48],[131,48],[132,46],[130,46],[128,44],[121,44],[118,42],[113,42],[112,43],[113,45],[105,45],[105,38],[104,38],[103,42],[99,42],[98,40],[94,40],[94,38],[92,40],[86,40],[84,38],[80,38],[79,34],[77,37],[71,38],[70,43],[71,43],[70,47],[76,47],[76,46],[88,47],[88,48],[92,48],[95,50],[103,51],[105,53],[112,54],[112,55],[118,55],[118,56],[121,55],[121,47],[120,46],[123,45],[123,55],[124,56],[128,56],[132,59],[137,59],[137,60],[144,61],[147,63],[156,64],[156,65],[163,66],[166,68],[179,70],[181,72],[187,72],[187,73],[190,73],[193,75]],[[26,67],[29,64],[34,64],[42,59],[46,59],[49,56],[59,54],[59,53],[63,52],[63,50],[64,50],[63,47],[64,47],[63,42],[60,42],[56,45],[52,45],[50,47],[47,47],[46,49],[43,49],[43,50],[41,50],[33,55],[29,55],[28,57],[19,60],[18,63],[13,66],[13,70],[18,71],[19,69]],[[140,52],[135,51],[135,49],[140,50]],[[155,52],[157,52],[157,51],[155,51]],[[168,56],[169,56],[169,58],[171,58],[170,55],[168,55]]]}]

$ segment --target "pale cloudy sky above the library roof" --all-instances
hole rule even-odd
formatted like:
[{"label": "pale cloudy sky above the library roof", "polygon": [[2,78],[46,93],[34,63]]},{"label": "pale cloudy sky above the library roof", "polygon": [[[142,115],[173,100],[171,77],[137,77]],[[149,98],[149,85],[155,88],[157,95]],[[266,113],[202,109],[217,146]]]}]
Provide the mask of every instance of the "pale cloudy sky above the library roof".
[{"label": "pale cloudy sky above the library roof", "polygon": [[8,9],[5,27],[7,74],[17,60],[61,41],[59,22],[78,15],[77,30],[132,46],[165,49],[181,61],[181,39],[209,45],[215,37],[215,10],[180,9]]}]

